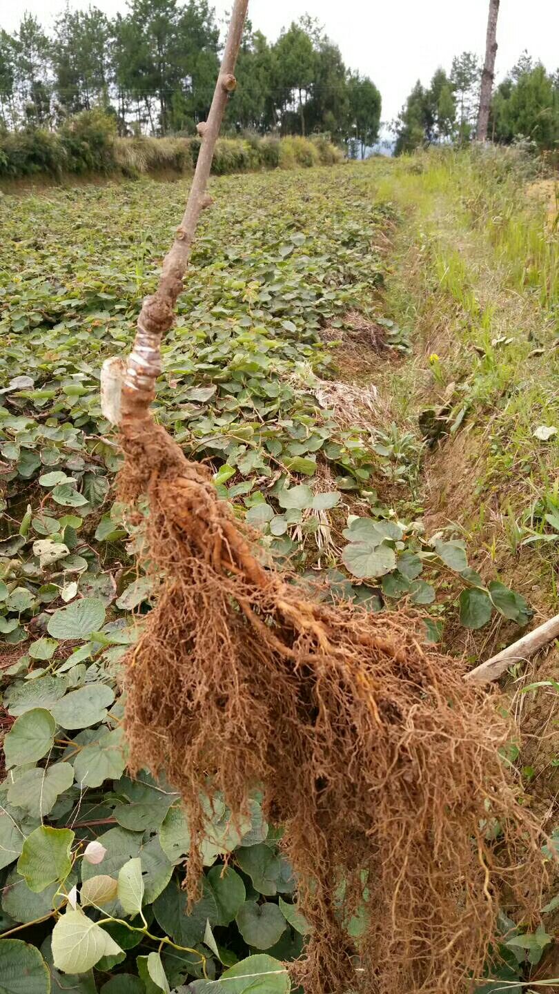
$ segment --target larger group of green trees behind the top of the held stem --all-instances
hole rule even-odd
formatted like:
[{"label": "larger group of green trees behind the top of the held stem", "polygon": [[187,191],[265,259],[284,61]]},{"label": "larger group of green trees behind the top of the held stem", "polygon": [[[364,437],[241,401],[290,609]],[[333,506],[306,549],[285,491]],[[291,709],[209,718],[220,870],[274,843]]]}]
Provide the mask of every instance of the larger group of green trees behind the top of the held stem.
[{"label": "larger group of green trees behind the top of the held stem", "polygon": [[[4,129],[57,127],[100,106],[119,134],[192,133],[207,116],[220,32],[207,0],[129,0],[113,19],[96,7],[67,9],[47,33],[25,14],[0,32]],[[230,131],[329,132],[365,148],[378,135],[381,96],[349,70],[319,24],[301,18],[270,43],[247,22],[230,100]]]}]

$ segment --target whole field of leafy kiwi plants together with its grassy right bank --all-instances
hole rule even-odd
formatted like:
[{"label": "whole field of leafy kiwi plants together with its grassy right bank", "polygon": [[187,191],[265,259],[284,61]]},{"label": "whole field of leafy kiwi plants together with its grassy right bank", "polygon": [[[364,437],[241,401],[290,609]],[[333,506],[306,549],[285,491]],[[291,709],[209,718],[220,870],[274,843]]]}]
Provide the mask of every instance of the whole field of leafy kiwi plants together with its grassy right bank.
[{"label": "whole field of leafy kiwi plants together with its grassy right bank", "polygon": [[[557,613],[557,227],[529,168],[449,153],[212,180],[155,402],[299,582],[407,604],[475,663]],[[119,664],[161,578],[115,493],[99,370],[129,350],[187,190],[0,199],[0,967],[29,971],[26,994],[248,974],[281,994],[308,928],[258,794],[235,825],[208,798],[189,911],[178,795],[125,772]],[[557,666],[514,674],[529,736],[505,757],[556,840]],[[503,906],[479,994],[557,975],[556,887],[544,902],[533,926]],[[357,943],[366,913],[364,895],[343,922]]]}]

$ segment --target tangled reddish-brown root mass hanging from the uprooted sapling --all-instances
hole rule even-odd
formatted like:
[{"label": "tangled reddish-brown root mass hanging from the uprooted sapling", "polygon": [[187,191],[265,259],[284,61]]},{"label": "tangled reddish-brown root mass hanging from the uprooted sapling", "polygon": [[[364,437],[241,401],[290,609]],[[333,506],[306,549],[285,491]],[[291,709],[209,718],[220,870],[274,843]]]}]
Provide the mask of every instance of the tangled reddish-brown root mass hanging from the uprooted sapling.
[{"label": "tangled reddish-brown root mass hanging from the uprooted sapling", "polygon": [[[466,991],[497,889],[526,908],[537,877],[494,700],[421,643],[413,615],[325,604],[265,569],[162,428],[123,445],[120,493],[147,493],[149,557],[166,577],[126,660],[130,764],[182,794],[190,897],[204,795],[222,791],[241,817],[261,788],[313,928],[295,964],[305,994]],[[344,924],[363,904],[356,950]]]}]

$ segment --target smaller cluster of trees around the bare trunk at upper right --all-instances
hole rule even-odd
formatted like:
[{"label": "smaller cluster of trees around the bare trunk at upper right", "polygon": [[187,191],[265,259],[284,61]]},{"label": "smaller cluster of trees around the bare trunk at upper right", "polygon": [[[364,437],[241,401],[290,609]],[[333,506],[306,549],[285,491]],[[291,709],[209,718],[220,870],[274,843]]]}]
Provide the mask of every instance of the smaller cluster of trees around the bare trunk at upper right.
[{"label": "smaller cluster of trees around the bare trunk at upper right", "polygon": [[[479,108],[481,67],[477,56],[463,52],[450,74],[438,69],[429,86],[415,84],[397,120],[395,154],[422,145],[466,142],[473,137]],[[539,149],[559,142],[559,70],[547,73],[524,52],[489,103],[487,137],[510,144],[518,138]]]}]

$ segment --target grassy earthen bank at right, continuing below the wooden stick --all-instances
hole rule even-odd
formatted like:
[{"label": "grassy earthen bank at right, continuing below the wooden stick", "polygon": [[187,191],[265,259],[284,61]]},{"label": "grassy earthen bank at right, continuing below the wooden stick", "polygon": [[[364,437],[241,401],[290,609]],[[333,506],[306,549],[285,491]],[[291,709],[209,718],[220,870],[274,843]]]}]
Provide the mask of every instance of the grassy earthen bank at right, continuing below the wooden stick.
[{"label": "grassy earthen bank at right, continuing below the wooden stick", "polygon": [[[383,170],[377,195],[403,214],[387,306],[413,357],[376,379],[400,432],[426,448],[419,504],[430,532],[466,539],[471,565],[521,592],[532,624],[559,610],[559,238],[552,181],[512,154],[426,155]],[[436,415],[434,417],[434,415]],[[518,637],[495,615],[452,617],[445,642],[472,663]],[[559,652],[519,665],[526,803],[556,825]],[[528,688],[533,687],[532,690]],[[548,926],[549,927],[549,926]],[[552,929],[551,929],[552,930]],[[557,975],[550,965],[545,975]]]}]

